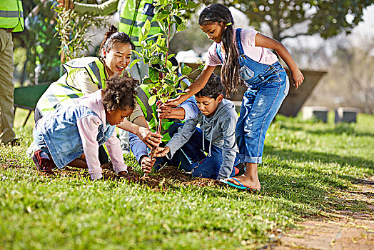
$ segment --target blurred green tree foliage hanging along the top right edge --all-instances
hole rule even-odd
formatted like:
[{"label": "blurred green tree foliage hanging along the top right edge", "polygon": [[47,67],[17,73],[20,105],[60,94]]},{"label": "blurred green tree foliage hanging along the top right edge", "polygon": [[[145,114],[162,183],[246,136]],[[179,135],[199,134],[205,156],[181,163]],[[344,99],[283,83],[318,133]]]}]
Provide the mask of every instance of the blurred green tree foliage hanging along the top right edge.
[{"label": "blurred green tree foliage hanging along the top right edge", "polygon": [[[199,0],[201,4],[233,6],[248,16],[251,26],[266,23],[273,38],[282,41],[300,35],[320,34],[323,38],[349,33],[362,21],[363,9],[372,0]],[[305,24],[307,29],[290,28]]]}]

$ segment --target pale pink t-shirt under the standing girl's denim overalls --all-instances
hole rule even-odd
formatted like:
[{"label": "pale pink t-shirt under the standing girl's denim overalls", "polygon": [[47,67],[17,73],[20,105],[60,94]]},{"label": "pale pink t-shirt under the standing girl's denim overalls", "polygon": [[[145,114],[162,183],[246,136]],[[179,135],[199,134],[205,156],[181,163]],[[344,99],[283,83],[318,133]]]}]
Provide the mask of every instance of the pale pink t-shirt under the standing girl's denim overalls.
[{"label": "pale pink t-shirt under the standing girl's denim overalls", "polygon": [[[271,65],[276,63],[278,61],[276,54],[264,47],[256,46],[255,36],[257,33],[258,31],[255,31],[254,29],[241,30],[241,45],[243,46],[244,54],[246,54],[246,56],[249,56],[253,61],[258,61],[261,64]],[[233,37],[236,48],[238,48],[236,44],[236,29],[234,29]],[[208,49],[206,64],[209,66],[217,66],[222,64],[216,52],[216,45],[217,43],[213,42],[213,44]],[[223,44],[221,42],[221,47],[222,46]],[[221,54],[223,57],[223,61],[225,61],[225,53],[223,53],[222,50]]]}]

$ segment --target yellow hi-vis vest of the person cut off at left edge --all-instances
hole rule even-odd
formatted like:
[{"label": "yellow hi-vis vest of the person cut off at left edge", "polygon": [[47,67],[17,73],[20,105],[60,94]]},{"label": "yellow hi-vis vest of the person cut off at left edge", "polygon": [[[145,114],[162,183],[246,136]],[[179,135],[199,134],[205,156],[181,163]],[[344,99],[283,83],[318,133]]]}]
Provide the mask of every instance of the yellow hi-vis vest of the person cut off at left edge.
[{"label": "yellow hi-vis vest of the person cut off at left edge", "polygon": [[0,28],[13,29],[13,32],[24,30],[24,11],[21,0],[0,1]]}]

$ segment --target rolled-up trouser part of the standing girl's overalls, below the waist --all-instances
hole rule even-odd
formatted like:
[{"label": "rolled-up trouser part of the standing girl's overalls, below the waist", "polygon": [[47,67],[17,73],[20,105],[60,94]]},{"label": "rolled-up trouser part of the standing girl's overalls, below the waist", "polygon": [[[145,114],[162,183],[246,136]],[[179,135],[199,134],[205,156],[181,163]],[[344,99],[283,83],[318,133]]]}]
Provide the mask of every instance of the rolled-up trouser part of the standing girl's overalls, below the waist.
[{"label": "rolled-up trouser part of the standing girl's overalls, below the waist", "polygon": [[266,81],[253,84],[244,93],[235,132],[241,162],[262,163],[266,131],[289,88],[288,76],[283,69]]}]

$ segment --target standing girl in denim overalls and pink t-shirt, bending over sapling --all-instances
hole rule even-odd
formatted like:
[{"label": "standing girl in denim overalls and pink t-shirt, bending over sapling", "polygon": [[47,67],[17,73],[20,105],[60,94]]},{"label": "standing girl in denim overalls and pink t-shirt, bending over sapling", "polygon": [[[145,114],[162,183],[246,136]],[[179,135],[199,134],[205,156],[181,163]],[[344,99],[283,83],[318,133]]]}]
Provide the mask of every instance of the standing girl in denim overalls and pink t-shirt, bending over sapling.
[{"label": "standing girl in denim overalls and pink t-shirt, bending over sapling", "polygon": [[211,4],[203,9],[199,24],[208,38],[215,41],[208,50],[206,66],[186,90],[188,95],[178,96],[168,104],[176,106],[196,94],[218,64],[223,65],[221,80],[228,94],[236,91],[239,83],[246,84],[248,90],[243,96],[236,126],[239,157],[246,163],[246,172],[223,182],[239,189],[260,190],[257,166],[262,162],[266,131],[289,89],[285,69],[268,49],[274,49],[288,65],[296,88],[303,82],[303,74],[280,42],[252,29],[233,29],[233,16],[222,4]]}]

